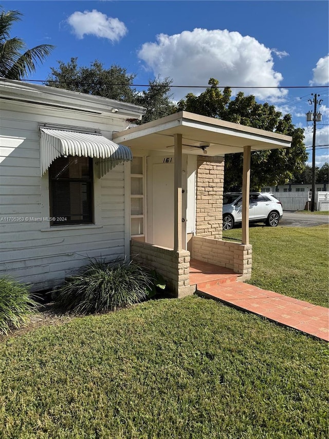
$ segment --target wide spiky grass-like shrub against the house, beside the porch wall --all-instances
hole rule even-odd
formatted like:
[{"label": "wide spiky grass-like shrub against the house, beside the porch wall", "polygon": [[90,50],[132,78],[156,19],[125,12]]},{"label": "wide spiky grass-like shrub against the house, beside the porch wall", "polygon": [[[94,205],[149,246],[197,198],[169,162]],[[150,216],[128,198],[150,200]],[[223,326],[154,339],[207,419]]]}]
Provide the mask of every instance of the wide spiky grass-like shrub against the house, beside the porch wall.
[{"label": "wide spiky grass-like shrub against the house, beside the porch wall", "polygon": [[92,261],[57,291],[57,302],[80,314],[111,311],[147,298],[152,275],[136,262]]}]

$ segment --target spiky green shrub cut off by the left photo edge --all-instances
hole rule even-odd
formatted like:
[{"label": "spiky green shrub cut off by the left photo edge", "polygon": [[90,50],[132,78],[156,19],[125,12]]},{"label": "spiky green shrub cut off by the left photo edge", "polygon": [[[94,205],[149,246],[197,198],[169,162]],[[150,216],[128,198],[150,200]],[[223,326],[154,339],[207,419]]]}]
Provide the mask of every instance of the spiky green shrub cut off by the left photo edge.
[{"label": "spiky green shrub cut off by the left photo edge", "polygon": [[12,328],[20,328],[28,322],[36,302],[30,296],[28,286],[10,277],[0,278],[0,335]]}]

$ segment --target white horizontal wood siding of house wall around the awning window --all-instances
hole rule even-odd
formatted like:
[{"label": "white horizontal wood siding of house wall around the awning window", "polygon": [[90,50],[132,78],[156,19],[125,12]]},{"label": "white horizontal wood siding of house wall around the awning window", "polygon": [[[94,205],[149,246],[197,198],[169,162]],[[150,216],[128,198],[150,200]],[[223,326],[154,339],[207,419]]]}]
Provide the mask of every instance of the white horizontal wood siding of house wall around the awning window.
[{"label": "white horizontal wood siding of house wall around the awning window", "polygon": [[[123,256],[129,224],[125,224],[125,165],[100,180],[94,172],[95,225],[53,226],[47,221],[4,218],[49,217],[48,172],[40,177],[39,124],[100,129],[112,138],[124,129],[120,119],[2,104],[0,125],[0,276],[31,283],[31,290],[51,288],[87,263],[88,257],[112,260]],[[94,159],[94,170],[95,161]],[[126,179],[127,180],[127,179]]]}]

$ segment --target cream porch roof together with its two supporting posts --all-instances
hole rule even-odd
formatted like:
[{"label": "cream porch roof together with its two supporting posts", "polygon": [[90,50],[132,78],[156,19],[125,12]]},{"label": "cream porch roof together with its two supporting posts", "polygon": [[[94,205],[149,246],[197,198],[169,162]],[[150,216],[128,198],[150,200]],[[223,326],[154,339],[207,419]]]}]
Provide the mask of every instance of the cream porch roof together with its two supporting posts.
[{"label": "cream porch roof together with its two supporting posts", "polygon": [[148,154],[174,154],[174,250],[182,250],[181,173],[182,154],[224,156],[243,153],[242,244],[249,244],[250,155],[253,151],[291,146],[292,138],[283,134],[233,124],[225,120],[185,111],[148,122],[139,127],[113,133],[115,142]]}]

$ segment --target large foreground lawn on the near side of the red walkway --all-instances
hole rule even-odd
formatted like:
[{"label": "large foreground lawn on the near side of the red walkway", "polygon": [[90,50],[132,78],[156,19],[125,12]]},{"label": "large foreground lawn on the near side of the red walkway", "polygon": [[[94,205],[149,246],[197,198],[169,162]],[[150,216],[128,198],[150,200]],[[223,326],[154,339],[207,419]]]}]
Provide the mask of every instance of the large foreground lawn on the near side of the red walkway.
[{"label": "large foreground lawn on the near side of the red walkway", "polygon": [[326,438],[327,392],[325,342],[196,296],[0,345],[8,439]]}]

